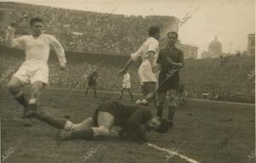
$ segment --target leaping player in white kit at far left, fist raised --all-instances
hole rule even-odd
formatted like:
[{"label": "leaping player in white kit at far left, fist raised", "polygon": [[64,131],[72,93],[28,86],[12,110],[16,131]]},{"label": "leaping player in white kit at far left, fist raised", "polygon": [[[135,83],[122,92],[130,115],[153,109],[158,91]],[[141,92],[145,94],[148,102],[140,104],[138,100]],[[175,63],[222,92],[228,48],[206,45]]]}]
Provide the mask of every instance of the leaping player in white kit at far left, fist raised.
[{"label": "leaping player in white kit at far left, fist raised", "polygon": [[[43,21],[40,18],[30,20],[31,35],[15,37],[15,25],[10,25],[6,33],[9,48],[20,48],[26,53],[26,60],[8,83],[9,91],[23,107],[22,118],[30,118],[32,110],[37,108],[40,92],[49,80],[49,50],[53,49],[58,57],[61,70],[66,67],[66,56],[61,43],[55,37],[44,34]],[[21,92],[21,87],[31,83],[32,93],[29,100]]]}]

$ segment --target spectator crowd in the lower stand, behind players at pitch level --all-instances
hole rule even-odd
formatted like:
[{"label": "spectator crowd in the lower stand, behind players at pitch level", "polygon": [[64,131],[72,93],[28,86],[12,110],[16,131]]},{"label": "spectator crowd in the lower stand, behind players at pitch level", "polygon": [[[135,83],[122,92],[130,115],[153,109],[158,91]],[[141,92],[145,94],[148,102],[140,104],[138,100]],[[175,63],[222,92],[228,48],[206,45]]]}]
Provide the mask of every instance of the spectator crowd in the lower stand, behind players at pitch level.
[{"label": "spectator crowd in the lower stand, behind players at pitch level", "polygon": [[[3,77],[4,70],[8,70],[11,65],[15,65],[13,63],[19,63],[20,59],[0,55],[0,77]],[[208,98],[224,101],[235,93],[229,101],[253,103],[255,97],[254,77],[247,81],[250,71],[254,70],[253,60],[253,56],[232,56],[229,62],[221,65],[221,59],[219,58],[187,59],[181,71],[181,81],[191,98],[203,98],[202,93],[209,93]],[[95,64],[88,61],[79,63],[72,61],[68,63],[66,70],[60,71],[57,64],[50,61],[49,87],[85,89],[87,81],[84,81],[83,75],[93,65]],[[96,68],[98,74],[97,89],[119,91],[123,80],[122,77],[118,77],[120,67],[119,64],[113,65],[108,62],[98,66]],[[137,68],[135,66],[131,67],[129,73],[131,75],[131,92],[139,93]],[[8,82],[9,77],[6,77],[3,82]],[[246,82],[246,84],[240,87],[243,82]],[[236,91],[238,87],[240,88]]]}]

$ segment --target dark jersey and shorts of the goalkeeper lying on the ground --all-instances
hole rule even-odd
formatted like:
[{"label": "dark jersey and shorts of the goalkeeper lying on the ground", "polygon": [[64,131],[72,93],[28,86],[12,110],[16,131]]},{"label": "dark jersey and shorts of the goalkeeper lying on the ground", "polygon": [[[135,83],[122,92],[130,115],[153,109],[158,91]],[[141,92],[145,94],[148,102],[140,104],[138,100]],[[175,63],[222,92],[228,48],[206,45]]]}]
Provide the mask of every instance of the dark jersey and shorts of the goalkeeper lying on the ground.
[{"label": "dark jersey and shorts of the goalkeeper lying on the ground", "polygon": [[137,136],[145,139],[145,124],[152,118],[148,107],[137,104],[121,104],[119,101],[107,101],[96,109],[93,119],[97,126],[97,112],[104,111],[113,115],[114,126],[120,126],[129,132],[136,132]]}]

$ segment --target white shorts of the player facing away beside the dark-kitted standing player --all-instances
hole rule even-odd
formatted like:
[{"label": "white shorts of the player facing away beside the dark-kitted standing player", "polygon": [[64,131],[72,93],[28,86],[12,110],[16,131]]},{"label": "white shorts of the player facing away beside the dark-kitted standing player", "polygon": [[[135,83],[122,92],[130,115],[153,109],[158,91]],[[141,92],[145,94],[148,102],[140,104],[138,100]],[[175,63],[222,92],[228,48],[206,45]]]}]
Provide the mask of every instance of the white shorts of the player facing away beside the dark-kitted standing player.
[{"label": "white shorts of the player facing away beside the dark-kitted standing player", "polygon": [[143,82],[157,82],[156,75],[151,70],[151,65],[142,64],[138,70],[138,77],[141,84]]}]

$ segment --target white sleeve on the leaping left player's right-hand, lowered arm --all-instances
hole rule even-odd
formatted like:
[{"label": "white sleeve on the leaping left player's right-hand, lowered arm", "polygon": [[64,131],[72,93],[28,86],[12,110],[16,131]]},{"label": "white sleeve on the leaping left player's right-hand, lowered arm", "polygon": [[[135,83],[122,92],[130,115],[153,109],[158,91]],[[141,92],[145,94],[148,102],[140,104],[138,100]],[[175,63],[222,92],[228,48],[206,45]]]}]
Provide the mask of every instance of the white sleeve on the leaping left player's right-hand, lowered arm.
[{"label": "white sleeve on the leaping left player's right-hand, lowered arm", "polygon": [[61,67],[66,67],[66,55],[64,48],[61,46],[61,43],[55,39],[55,37],[49,36],[50,48],[53,49],[58,57],[58,61]]}]

